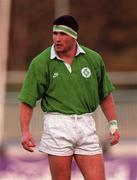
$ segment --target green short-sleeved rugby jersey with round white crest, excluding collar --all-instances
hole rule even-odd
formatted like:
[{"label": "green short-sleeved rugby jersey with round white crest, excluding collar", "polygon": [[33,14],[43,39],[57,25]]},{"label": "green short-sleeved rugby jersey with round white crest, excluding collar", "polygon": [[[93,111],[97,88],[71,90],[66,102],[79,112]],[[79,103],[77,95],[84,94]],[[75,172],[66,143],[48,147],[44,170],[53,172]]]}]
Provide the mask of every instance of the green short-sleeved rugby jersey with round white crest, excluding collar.
[{"label": "green short-sleeved rugby jersey with round white crest, excluding collar", "polygon": [[41,100],[44,112],[83,114],[93,112],[115,88],[108,78],[101,56],[85,51],[73,58],[70,73],[64,62],[50,58],[51,47],[29,66],[19,100],[34,107]]}]

